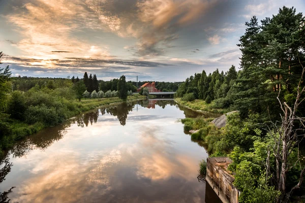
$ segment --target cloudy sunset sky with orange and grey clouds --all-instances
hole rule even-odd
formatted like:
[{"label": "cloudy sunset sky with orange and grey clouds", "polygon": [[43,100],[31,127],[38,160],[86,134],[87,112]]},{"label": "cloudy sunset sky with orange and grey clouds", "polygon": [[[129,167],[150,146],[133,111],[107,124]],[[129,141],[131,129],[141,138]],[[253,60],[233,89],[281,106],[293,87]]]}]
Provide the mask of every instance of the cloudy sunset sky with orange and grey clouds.
[{"label": "cloudy sunset sky with orange and grey clouds", "polygon": [[184,81],[238,70],[245,22],[305,0],[0,0],[1,67],[13,76]]}]

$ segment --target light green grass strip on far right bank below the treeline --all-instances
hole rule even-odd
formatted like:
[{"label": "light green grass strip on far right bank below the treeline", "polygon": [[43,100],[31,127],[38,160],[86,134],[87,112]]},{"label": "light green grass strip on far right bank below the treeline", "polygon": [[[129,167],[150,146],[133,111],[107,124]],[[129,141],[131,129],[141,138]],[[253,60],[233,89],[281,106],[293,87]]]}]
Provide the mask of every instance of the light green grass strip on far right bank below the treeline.
[{"label": "light green grass strip on far right bank below the treeline", "polygon": [[175,101],[183,106],[186,106],[195,111],[205,111],[211,113],[228,113],[229,109],[218,109],[215,108],[214,103],[206,104],[204,100],[195,99],[194,101],[184,101],[181,98],[175,98]]}]

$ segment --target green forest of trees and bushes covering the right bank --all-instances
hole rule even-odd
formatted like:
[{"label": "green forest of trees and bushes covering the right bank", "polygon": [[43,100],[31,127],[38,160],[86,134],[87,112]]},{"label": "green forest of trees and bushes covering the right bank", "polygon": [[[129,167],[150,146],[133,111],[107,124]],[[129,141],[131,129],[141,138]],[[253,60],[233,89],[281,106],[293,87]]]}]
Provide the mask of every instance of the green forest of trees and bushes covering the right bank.
[{"label": "green forest of trees and bushes covering the right bank", "polygon": [[303,202],[305,129],[305,18],[294,8],[246,23],[237,45],[240,69],[205,71],[182,83],[176,93],[184,104],[237,110],[224,128],[210,119],[182,119],[192,139],[211,156],[228,156],[240,202]]}]

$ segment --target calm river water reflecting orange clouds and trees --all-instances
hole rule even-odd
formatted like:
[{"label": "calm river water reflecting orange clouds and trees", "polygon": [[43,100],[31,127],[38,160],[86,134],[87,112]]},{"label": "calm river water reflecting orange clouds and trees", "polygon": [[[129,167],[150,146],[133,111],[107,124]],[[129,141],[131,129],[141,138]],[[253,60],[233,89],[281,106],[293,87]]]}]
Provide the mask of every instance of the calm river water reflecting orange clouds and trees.
[{"label": "calm river water reflecting orange clouds and trees", "polygon": [[197,179],[206,150],[177,121],[196,116],[157,99],[82,114],[17,143],[0,192],[15,187],[8,197],[19,203],[220,202]]}]

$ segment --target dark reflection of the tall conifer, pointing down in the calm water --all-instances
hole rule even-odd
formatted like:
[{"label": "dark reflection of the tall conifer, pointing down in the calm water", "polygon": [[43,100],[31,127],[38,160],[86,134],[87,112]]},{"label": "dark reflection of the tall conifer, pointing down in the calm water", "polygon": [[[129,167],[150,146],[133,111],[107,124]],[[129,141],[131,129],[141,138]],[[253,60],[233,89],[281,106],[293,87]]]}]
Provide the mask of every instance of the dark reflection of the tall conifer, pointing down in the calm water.
[{"label": "dark reflection of the tall conifer, pointing down in the calm water", "polygon": [[134,108],[135,103],[122,103],[116,106],[109,106],[106,112],[116,116],[121,125],[126,125],[126,119],[130,111]]}]

